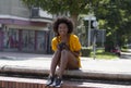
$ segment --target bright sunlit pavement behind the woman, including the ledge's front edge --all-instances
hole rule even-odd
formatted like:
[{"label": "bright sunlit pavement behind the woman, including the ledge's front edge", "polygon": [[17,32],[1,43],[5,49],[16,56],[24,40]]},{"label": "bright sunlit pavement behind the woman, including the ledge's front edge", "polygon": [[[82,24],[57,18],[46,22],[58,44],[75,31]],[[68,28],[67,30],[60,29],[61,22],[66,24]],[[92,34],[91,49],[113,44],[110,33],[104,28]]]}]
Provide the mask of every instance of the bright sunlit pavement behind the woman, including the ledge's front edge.
[{"label": "bright sunlit pavement behind the woman, including the ledge's front edge", "polygon": [[[51,56],[49,54],[0,52],[0,72],[48,75]],[[93,60],[82,56],[81,63],[81,70],[66,71],[64,75],[131,80],[131,60]]]}]

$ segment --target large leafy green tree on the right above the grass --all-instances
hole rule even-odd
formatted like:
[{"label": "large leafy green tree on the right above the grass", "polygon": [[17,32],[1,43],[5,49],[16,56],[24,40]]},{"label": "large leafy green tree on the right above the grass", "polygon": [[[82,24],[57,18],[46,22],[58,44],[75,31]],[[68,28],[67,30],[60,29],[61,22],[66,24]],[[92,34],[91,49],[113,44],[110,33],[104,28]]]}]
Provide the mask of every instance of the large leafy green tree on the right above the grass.
[{"label": "large leafy green tree on the right above the grass", "polygon": [[99,28],[106,29],[107,41],[123,46],[131,35],[131,0],[99,0],[93,4],[96,17],[103,22]]}]

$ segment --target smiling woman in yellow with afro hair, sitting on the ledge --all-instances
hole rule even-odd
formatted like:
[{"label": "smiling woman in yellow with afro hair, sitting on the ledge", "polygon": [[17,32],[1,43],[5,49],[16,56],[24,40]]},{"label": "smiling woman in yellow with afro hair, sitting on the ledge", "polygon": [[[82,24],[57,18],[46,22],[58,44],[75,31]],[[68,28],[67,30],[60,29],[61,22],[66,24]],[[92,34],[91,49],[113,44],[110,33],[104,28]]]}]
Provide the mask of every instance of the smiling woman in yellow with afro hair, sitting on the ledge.
[{"label": "smiling woman in yellow with afro hair, sitting on the ledge", "polygon": [[[61,86],[64,70],[79,70],[81,67],[79,37],[73,32],[73,23],[68,17],[58,17],[53,23],[56,37],[52,38],[51,48],[55,51],[47,86]],[[56,68],[59,71],[56,76]]]}]

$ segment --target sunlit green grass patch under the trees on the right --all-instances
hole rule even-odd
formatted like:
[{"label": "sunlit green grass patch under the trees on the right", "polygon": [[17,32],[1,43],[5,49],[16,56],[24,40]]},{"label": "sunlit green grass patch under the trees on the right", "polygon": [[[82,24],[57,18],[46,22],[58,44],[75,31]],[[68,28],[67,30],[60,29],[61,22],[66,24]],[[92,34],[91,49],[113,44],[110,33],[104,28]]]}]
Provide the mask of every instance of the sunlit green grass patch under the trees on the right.
[{"label": "sunlit green grass patch under the trees on the right", "polygon": [[[94,56],[94,52],[91,52],[91,58]],[[112,60],[118,59],[118,55],[111,52],[105,52],[103,49],[96,50],[96,59],[106,59],[106,60]]]}]

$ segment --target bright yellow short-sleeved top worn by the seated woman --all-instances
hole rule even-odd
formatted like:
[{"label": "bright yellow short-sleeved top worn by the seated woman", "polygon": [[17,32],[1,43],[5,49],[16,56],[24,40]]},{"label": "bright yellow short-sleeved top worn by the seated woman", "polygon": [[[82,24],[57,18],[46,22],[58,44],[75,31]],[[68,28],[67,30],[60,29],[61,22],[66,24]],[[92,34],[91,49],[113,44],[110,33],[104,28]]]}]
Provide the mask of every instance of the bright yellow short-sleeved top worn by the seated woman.
[{"label": "bright yellow short-sleeved top worn by the seated woman", "polygon": [[[58,43],[60,43],[60,42],[61,42],[60,36],[52,38],[51,48],[53,51],[56,51],[58,49]],[[80,43],[79,37],[76,35],[73,35],[73,34],[70,35],[69,46],[70,46],[71,51],[80,51],[81,50],[81,43]],[[79,66],[81,67],[80,58],[78,58],[78,60],[79,60]]]}]

